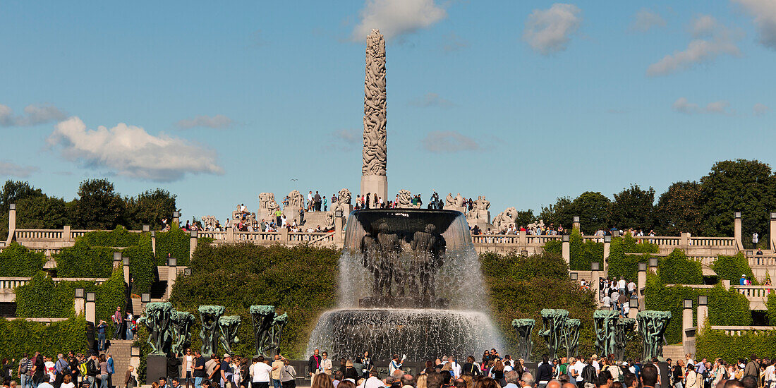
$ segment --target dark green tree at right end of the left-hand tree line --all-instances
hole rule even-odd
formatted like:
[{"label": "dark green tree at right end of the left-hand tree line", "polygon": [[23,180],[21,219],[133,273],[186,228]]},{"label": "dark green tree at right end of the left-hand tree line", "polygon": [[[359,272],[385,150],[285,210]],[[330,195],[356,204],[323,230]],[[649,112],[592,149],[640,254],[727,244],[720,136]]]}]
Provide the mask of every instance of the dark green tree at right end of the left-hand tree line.
[{"label": "dark green tree at right end of the left-hand tree line", "polygon": [[161,219],[171,219],[172,212],[176,210],[175,195],[162,189],[147,190],[136,197],[126,198],[125,202],[124,226],[130,230],[140,230],[143,225],[158,229]]}]

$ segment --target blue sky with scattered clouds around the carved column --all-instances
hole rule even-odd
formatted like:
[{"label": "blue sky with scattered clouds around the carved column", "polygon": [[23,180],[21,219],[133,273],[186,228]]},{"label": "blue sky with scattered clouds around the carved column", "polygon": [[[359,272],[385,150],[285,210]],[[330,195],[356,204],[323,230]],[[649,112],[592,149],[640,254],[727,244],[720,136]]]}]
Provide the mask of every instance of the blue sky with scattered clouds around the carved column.
[{"label": "blue sky with scattered clouds around the carved column", "polygon": [[5,1],[0,179],[161,187],[184,217],[355,196],[371,28],[390,196],[485,195],[495,216],[776,162],[771,0]]}]

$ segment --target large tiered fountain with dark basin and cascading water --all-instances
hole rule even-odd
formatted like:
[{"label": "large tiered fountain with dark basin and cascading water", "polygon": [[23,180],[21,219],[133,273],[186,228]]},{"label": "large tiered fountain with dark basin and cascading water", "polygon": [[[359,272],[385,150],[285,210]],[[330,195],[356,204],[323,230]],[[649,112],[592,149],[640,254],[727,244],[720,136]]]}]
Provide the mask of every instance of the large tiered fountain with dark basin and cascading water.
[{"label": "large tiered fountain with dark basin and cascading water", "polygon": [[340,257],[338,308],[325,312],[307,354],[364,351],[376,360],[463,359],[501,340],[469,227],[454,210],[355,210]]}]

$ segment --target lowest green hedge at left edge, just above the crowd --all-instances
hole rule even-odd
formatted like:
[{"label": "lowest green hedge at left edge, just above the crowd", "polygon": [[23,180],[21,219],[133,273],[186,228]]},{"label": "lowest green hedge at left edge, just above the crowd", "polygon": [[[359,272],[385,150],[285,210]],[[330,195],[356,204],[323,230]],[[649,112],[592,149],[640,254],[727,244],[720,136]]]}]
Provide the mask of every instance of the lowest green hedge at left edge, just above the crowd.
[{"label": "lowest green hedge at left edge, just above the crowd", "polygon": [[[56,356],[68,351],[86,352],[85,317],[73,317],[50,325],[23,319],[0,317],[0,354],[7,359],[22,359],[24,353]],[[16,375],[16,373],[14,373]]]}]

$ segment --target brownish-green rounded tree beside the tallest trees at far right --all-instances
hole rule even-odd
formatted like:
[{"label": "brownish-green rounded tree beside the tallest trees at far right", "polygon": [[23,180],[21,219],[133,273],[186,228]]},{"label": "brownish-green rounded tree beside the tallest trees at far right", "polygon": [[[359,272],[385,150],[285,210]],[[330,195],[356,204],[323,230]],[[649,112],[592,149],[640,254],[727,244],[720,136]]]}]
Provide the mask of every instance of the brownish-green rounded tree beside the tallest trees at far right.
[{"label": "brownish-green rounded tree beside the tallest trees at far right", "polygon": [[660,194],[655,206],[655,232],[677,236],[682,232],[698,235],[701,230],[701,185],[676,182]]}]

